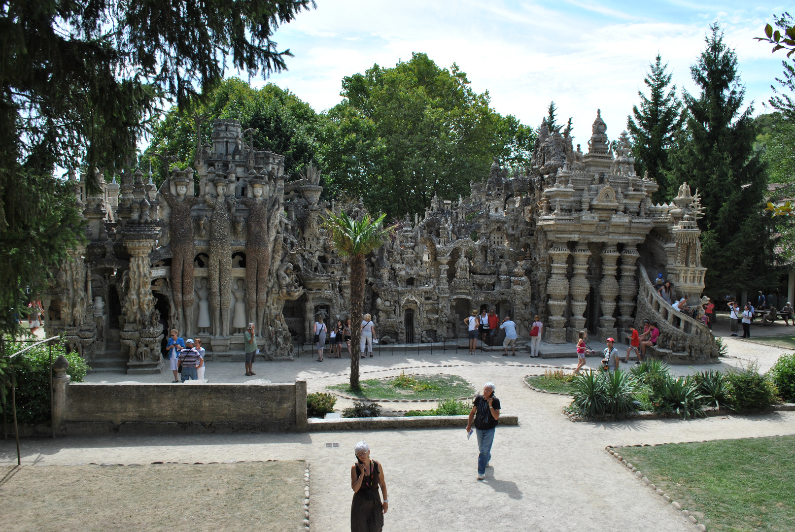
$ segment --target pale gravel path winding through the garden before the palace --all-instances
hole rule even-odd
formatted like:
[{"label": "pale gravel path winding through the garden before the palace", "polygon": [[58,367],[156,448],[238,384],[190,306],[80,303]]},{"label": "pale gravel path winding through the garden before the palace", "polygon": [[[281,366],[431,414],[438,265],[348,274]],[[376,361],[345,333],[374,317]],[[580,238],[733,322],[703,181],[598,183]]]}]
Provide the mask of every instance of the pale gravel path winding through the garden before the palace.
[{"label": "pale gravel path winding through the garden before the palace", "polygon": [[[762,369],[780,353],[770,348],[730,340],[729,354],[758,358]],[[441,353],[440,353],[441,354]],[[499,427],[492,450],[493,468],[483,482],[475,480],[477,445],[463,430],[345,431],[311,434],[242,434],[190,437],[106,437],[23,441],[27,464],[74,462],[148,463],[152,461],[225,461],[307,459],[312,468],[312,530],[350,530],[350,466],[353,445],[366,439],[373,457],[382,461],[389,486],[390,511],[386,530],[461,530],[491,526],[497,530],[649,530],[693,532],[696,527],[680,513],[642,488],[640,481],[615,463],[605,445],[634,445],[718,438],[747,438],[795,434],[795,412],[750,417],[725,416],[677,420],[638,420],[622,423],[570,422],[560,413],[568,399],[530,390],[522,383],[543,368],[528,368],[539,359],[505,358],[499,353],[468,357],[409,357],[363,360],[363,378],[387,376],[401,368],[426,366],[415,372],[446,372],[482,386],[497,384],[502,412],[518,414],[520,425]],[[347,360],[258,363],[257,378],[308,380],[318,391],[346,379]],[[589,358],[593,366],[598,358]],[[576,360],[543,360],[545,365],[574,367]],[[738,359],[723,359],[723,368]],[[223,366],[222,364],[228,364]],[[522,364],[517,367],[515,364]],[[236,366],[239,365],[239,368]],[[448,366],[448,367],[444,367]],[[716,368],[715,364],[704,368]],[[235,378],[242,364],[207,364],[216,382]],[[675,366],[677,373],[700,367]],[[229,378],[225,376],[229,373]],[[408,371],[407,371],[408,372]],[[340,375],[340,373],[343,373]],[[96,376],[95,374],[94,376]],[[92,376],[92,380],[95,380]],[[129,380],[118,376],[118,380]],[[242,377],[242,376],[241,376]],[[168,380],[149,376],[139,380]],[[111,380],[111,375],[101,379]],[[244,380],[240,378],[239,380]],[[340,402],[338,406],[341,405]],[[397,405],[401,403],[389,403]],[[405,404],[405,403],[403,403]],[[416,407],[417,403],[410,403]],[[463,429],[463,427],[462,427]],[[337,443],[338,447],[328,447]],[[0,443],[0,463],[14,460],[12,441]]]}]

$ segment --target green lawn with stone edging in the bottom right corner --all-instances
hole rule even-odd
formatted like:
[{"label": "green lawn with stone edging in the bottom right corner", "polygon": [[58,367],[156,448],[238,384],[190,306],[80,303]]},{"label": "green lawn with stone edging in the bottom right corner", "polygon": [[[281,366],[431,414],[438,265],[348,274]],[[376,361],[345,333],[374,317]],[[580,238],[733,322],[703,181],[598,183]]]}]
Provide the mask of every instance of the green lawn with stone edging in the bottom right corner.
[{"label": "green lawn with stone edging in the bottom right corner", "polygon": [[795,436],[623,447],[707,530],[795,530]]}]

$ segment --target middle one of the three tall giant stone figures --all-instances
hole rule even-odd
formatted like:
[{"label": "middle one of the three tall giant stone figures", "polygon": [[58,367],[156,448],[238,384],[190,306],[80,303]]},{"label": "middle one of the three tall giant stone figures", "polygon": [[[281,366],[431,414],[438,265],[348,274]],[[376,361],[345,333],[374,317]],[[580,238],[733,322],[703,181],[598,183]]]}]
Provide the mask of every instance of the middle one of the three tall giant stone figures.
[{"label": "middle one of the three tall giant stone figures", "polygon": [[232,246],[229,233],[236,202],[234,196],[227,195],[227,179],[213,179],[213,184],[216,195],[204,196],[204,202],[213,209],[210,221],[210,264],[207,265],[210,308],[213,312],[212,332],[215,336],[227,337],[232,283]]}]

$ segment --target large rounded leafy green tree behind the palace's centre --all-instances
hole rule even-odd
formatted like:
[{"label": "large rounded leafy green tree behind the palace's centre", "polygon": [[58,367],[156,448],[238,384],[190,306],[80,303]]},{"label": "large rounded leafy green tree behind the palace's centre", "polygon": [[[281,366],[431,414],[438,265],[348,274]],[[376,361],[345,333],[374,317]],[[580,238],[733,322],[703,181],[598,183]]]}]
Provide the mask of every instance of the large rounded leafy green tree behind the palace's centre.
[{"label": "large rounded leafy green tree behind the palace's centre", "polygon": [[494,156],[526,164],[533,130],[496,113],[488,92],[469,84],[456,64],[440,68],[424,53],[344,78],[321,142],[329,192],[400,216],[421,213],[434,195],[467,195]]}]

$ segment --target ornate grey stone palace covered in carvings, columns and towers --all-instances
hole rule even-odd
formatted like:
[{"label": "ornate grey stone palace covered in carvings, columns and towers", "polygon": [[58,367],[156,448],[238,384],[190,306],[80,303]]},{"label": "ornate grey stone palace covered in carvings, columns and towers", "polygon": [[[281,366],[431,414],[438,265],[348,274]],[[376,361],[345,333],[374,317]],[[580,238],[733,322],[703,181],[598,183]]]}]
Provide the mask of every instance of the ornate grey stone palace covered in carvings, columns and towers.
[{"label": "ornate grey stone palace covered in carvings, columns and towers", "polygon": [[[382,340],[463,338],[463,318],[494,307],[521,337],[540,314],[550,344],[581,329],[622,336],[650,318],[662,357],[715,360],[707,328],[670,311],[650,283],[662,273],[677,295],[700,295],[697,191],[684,184],[653,205],[657,183],[635,175],[626,132],[614,152],[606,131],[597,114],[583,153],[542,124],[528,171],[509,177],[495,160],[469,197],[434,198],[397,222],[366,262],[365,309]],[[138,170],[121,183],[92,176],[100,192],[88,195],[86,178],[70,175],[88,242],[45,295],[46,329],[95,366],[160,371],[171,328],[203,337],[214,360],[237,360],[249,322],[269,360],[291,359],[316,314],[347,318],[347,263],[322,223],[343,206],[320,200],[316,169],[285,183],[284,157],[254,150],[235,120],[216,120],[197,153],[159,190]],[[364,214],[361,202],[351,208]]]}]

